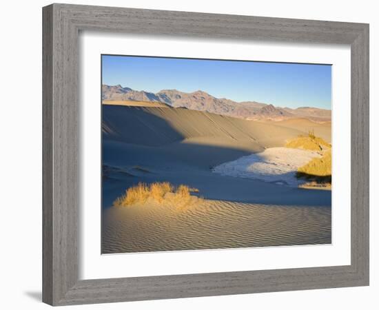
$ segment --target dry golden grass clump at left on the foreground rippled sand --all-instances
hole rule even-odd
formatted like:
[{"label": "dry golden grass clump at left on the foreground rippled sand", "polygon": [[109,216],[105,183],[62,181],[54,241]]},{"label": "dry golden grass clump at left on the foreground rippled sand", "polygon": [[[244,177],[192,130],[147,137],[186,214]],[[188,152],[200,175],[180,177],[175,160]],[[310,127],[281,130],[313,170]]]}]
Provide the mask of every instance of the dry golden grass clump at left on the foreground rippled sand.
[{"label": "dry golden grass clump at left on the foreground rippled sand", "polygon": [[192,196],[191,192],[198,192],[198,189],[187,185],[174,187],[168,182],[156,182],[150,185],[139,183],[128,188],[123,196],[116,198],[113,205],[116,207],[143,205],[147,200],[150,200],[154,203],[185,207],[196,201],[198,202],[200,199]]}]

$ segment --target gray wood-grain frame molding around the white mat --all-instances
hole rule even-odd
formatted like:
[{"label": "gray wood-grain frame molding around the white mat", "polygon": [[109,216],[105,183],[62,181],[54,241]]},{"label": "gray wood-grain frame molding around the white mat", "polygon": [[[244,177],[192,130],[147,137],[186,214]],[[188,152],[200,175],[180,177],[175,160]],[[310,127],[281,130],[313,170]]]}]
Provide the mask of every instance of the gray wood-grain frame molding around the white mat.
[{"label": "gray wood-grain frame molding around the white mat", "polygon": [[[79,30],[349,44],[351,265],[78,280]],[[43,8],[43,302],[88,304],[362,285],[369,285],[368,24],[67,4]]]}]

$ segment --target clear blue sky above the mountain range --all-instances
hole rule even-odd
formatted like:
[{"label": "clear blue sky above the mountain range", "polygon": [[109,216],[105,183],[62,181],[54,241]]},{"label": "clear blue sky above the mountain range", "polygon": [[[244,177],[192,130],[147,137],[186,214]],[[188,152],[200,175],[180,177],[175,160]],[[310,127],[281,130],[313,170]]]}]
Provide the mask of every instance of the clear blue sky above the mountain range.
[{"label": "clear blue sky above the mountain range", "polygon": [[331,109],[331,65],[103,55],[102,66],[106,85]]}]

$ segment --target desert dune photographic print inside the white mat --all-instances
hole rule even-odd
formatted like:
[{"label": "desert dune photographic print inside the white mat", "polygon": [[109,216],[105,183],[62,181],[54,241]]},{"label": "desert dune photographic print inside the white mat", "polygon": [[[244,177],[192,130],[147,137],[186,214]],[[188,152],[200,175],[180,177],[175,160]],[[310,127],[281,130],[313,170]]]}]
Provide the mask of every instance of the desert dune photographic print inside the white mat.
[{"label": "desert dune photographic print inside the white mat", "polygon": [[102,254],[331,244],[331,65],[101,55]]}]

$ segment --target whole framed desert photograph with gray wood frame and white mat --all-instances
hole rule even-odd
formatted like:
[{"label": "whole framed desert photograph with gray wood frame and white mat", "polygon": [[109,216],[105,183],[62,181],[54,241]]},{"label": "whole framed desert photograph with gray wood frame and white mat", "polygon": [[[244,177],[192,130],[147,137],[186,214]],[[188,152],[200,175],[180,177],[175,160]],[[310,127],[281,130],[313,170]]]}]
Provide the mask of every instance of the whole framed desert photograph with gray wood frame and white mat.
[{"label": "whole framed desert photograph with gray wood frame and white mat", "polygon": [[369,25],[43,8],[43,301],[369,285]]}]

